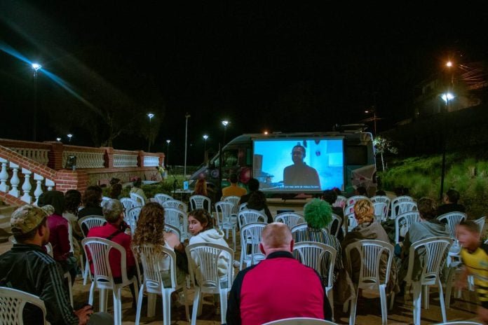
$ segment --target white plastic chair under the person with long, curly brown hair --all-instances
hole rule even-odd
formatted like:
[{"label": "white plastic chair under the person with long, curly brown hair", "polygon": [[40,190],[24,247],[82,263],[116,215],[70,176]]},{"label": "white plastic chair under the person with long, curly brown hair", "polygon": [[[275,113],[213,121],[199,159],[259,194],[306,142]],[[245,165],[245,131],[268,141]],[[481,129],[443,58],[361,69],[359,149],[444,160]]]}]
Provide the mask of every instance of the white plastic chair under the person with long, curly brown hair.
[{"label": "white plastic chair under the person with long, curly brown hair", "polygon": [[[158,294],[163,298],[163,324],[171,324],[171,293],[177,289],[183,289],[185,310],[187,312],[187,321],[190,321],[188,300],[187,300],[187,287],[179,286],[176,281],[176,254],[175,251],[163,247],[159,247],[159,251],[156,252],[154,245],[143,244],[141,246],[134,247],[134,251],[137,252],[139,259],[142,263],[142,269],[144,270],[144,282],[142,282],[139,289],[139,298],[137,299],[137,312],[135,314],[135,324],[140,324],[141,309],[142,309],[142,296],[144,291],[148,293],[147,302],[147,317],[154,317],[156,312],[156,299],[153,296]],[[161,270],[160,262],[163,259],[170,259],[170,269]],[[162,275],[169,273],[170,285],[165,286]]]}]

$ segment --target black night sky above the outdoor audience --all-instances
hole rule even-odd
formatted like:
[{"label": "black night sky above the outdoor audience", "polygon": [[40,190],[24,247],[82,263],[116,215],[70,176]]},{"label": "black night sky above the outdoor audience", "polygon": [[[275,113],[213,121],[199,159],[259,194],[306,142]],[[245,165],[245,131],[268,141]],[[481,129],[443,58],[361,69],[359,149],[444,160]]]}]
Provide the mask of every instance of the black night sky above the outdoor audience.
[{"label": "black night sky above the outdoor audience", "polygon": [[[284,2],[176,8],[163,1],[4,0],[0,41],[39,60],[95,106],[103,97],[163,116],[155,150],[165,151],[165,139],[183,148],[188,111],[191,163],[203,157],[204,133],[208,146],[222,139],[224,118],[231,121],[227,140],[264,130],[328,131],[358,123],[376,104],[384,130],[406,117],[414,85],[440,71],[448,56],[469,62],[488,53],[487,11],[474,4]],[[32,71],[0,51],[0,78],[0,137],[29,139]],[[46,110],[62,105],[69,114],[81,102],[41,73],[38,93],[46,123],[38,138],[50,140],[59,131]],[[69,130],[83,136],[74,143],[90,145],[87,130],[76,127]],[[146,144],[137,133],[114,142],[128,149]]]}]

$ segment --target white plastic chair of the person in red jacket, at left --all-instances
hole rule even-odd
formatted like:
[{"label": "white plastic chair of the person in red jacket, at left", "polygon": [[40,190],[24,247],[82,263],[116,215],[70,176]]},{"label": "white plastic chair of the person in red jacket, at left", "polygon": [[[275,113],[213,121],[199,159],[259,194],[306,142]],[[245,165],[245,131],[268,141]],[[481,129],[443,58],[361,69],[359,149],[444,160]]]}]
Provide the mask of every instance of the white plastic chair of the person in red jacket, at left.
[{"label": "white plastic chair of the person in red jacket, at left", "polygon": [[[114,324],[122,324],[122,288],[134,284],[135,294],[137,300],[137,277],[133,276],[128,279],[127,266],[126,266],[126,249],[120,244],[106,240],[100,237],[88,237],[81,241],[86,256],[91,256],[93,261],[93,282],[90,287],[90,296],[88,303],[93,305],[93,291],[95,287],[100,291],[100,312],[107,311],[107,289],[112,290],[114,296]],[[122,282],[116,284],[114,277],[112,277],[112,271],[109,261],[109,252],[111,249],[118,251],[121,255],[121,278]],[[88,254],[88,252],[90,254]]]}]

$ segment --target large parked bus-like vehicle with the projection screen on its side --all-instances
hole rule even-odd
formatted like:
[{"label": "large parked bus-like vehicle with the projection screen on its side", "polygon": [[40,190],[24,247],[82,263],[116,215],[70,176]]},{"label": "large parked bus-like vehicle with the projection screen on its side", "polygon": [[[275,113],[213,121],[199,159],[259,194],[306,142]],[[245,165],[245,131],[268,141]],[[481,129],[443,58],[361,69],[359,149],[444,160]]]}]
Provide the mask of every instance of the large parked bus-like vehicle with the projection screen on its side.
[{"label": "large parked bus-like vehicle with the projection screen on its side", "polygon": [[362,124],[341,125],[331,132],[242,134],[191,175],[190,187],[197,179],[206,179],[209,187],[224,187],[236,173],[242,186],[255,178],[260,191],[274,197],[331,188],[346,194],[358,186],[374,193],[376,171],[372,134]]}]

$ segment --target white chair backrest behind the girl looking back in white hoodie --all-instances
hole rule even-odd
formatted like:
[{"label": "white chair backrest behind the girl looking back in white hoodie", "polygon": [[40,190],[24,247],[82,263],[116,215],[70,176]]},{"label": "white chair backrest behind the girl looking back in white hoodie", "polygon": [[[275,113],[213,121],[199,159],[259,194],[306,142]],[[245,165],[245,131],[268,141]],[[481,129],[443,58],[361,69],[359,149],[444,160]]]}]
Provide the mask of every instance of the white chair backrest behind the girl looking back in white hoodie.
[{"label": "white chair backrest behind the girl looking back in white hoodie", "polygon": [[[191,244],[185,248],[191,281],[204,293],[219,293],[231,289],[233,280],[233,250],[208,242]],[[220,258],[224,256],[224,258]],[[227,273],[219,276],[219,263],[226,261]],[[198,271],[197,271],[198,269]]]}]

